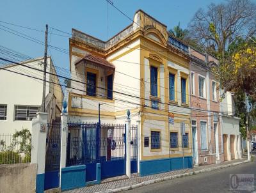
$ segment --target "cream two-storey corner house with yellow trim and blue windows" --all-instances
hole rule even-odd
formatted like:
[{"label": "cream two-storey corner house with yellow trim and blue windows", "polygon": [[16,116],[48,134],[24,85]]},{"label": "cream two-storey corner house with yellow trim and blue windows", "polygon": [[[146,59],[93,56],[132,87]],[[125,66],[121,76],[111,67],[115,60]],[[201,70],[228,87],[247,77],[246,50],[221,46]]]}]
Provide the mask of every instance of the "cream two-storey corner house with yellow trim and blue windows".
[{"label": "cream two-storey corner house with yellow trim and blue windows", "polygon": [[100,109],[101,123],[124,123],[129,109],[141,175],[192,167],[188,45],[164,24],[139,10],[107,42],[72,29],[70,72],[69,122],[98,122]]}]

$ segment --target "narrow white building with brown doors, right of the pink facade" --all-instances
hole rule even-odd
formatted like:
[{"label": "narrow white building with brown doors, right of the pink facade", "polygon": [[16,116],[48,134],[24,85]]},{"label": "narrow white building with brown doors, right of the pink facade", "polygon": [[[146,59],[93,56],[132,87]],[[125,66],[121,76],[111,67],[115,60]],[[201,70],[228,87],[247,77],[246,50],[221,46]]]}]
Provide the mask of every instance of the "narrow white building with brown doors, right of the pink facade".
[{"label": "narrow white building with brown doors, right of the pink facade", "polygon": [[223,112],[221,125],[223,129],[223,153],[224,160],[232,160],[242,157],[241,135],[239,132],[239,120],[234,116],[235,107],[232,94],[227,92],[221,101]]}]

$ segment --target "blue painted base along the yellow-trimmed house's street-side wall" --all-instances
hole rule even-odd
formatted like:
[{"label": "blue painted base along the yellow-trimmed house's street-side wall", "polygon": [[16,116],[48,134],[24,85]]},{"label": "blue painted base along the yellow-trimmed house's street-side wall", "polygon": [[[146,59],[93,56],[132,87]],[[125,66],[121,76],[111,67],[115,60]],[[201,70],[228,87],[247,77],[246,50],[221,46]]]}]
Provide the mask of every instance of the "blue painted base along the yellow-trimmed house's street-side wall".
[{"label": "blue painted base along the yellow-trimmed house's street-side wall", "polygon": [[[193,158],[184,157],[184,168],[191,167],[193,167]],[[182,157],[140,161],[140,176],[164,173],[177,169],[183,169]]]}]

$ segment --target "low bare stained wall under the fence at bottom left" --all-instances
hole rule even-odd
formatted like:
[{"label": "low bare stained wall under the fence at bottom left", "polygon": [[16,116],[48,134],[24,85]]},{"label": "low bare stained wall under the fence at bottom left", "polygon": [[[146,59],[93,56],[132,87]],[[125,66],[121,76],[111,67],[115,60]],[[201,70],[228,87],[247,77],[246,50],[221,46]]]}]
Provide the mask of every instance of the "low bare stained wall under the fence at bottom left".
[{"label": "low bare stained wall under the fence at bottom left", "polygon": [[36,164],[0,165],[0,192],[35,192]]}]

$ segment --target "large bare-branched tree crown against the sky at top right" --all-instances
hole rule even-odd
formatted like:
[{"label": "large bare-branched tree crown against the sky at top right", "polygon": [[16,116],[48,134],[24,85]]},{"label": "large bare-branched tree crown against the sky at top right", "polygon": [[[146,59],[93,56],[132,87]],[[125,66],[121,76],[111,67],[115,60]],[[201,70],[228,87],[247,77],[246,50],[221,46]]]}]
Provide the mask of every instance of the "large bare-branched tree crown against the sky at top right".
[{"label": "large bare-branched tree crown against the sky at top right", "polygon": [[205,50],[225,59],[230,43],[240,35],[255,35],[256,4],[250,0],[230,0],[200,8],[189,23],[189,36]]}]

